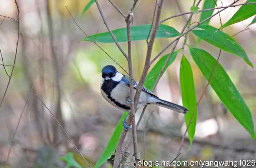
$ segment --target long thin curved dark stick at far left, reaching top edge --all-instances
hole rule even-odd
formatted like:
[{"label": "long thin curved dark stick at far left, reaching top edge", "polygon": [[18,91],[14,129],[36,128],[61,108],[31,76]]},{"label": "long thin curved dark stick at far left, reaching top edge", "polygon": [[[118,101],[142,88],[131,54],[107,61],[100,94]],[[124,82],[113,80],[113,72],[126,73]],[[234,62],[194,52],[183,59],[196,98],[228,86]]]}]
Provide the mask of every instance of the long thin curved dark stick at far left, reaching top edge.
[{"label": "long thin curved dark stick at far left, reaching top edge", "polygon": [[[13,76],[13,71],[14,71],[14,67],[15,67],[15,63],[16,63],[16,58],[17,58],[17,51],[18,51],[18,44],[19,44],[19,37],[20,37],[20,10],[19,10],[19,6],[17,4],[17,0],[14,0],[15,1],[15,4],[16,4],[16,8],[17,8],[17,11],[18,11],[18,37],[17,37],[17,42],[16,42],[16,51],[15,51],[15,56],[14,56],[14,61],[13,61],[13,67],[12,67],[12,72],[11,72],[11,75],[9,77],[9,81],[7,83],[7,86],[6,86],[6,89],[4,91],[4,95],[3,95],[3,98],[1,100],[1,103],[0,103],[0,107],[2,106],[2,103],[4,101],[4,97],[6,95],[6,92],[9,88],[9,85],[10,85],[10,82],[11,82],[11,79],[12,79],[12,76]],[[9,17],[8,17],[9,18]],[[12,18],[11,18],[12,19]],[[14,19],[16,20],[16,19]]]}]

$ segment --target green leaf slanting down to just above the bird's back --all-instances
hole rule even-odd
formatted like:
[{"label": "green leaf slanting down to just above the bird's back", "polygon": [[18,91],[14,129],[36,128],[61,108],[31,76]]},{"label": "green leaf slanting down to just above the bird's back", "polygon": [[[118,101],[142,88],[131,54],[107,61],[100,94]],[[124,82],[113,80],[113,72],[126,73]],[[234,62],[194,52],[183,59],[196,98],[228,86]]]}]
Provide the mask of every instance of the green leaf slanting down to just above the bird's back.
[{"label": "green leaf slanting down to just above the bird's back", "polygon": [[[171,58],[168,61],[167,66],[164,69],[164,72],[167,69],[167,67],[170,66],[174,62],[174,60],[177,57],[178,52],[180,52],[180,50],[181,49],[173,52],[173,55],[171,55]],[[168,59],[168,57],[169,57],[169,54],[163,56],[160,60],[158,60],[158,62],[155,64],[155,66],[150,70],[150,72],[148,73],[148,75],[146,77],[145,83],[144,83],[144,86],[146,88],[148,88],[150,90],[153,89],[155,82],[157,82],[157,78],[158,78],[166,60]],[[163,74],[164,74],[164,72],[163,72]]]}]

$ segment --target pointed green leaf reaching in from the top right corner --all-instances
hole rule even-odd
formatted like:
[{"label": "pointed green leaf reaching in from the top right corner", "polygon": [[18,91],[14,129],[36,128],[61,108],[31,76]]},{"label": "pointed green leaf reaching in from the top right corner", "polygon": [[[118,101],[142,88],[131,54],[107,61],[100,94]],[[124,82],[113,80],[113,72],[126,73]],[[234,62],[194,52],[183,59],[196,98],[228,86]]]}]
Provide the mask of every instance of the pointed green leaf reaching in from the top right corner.
[{"label": "pointed green leaf reaching in from the top right corner", "polygon": [[[247,0],[247,3],[256,2],[256,0]],[[241,22],[256,14],[256,3],[255,4],[245,4],[237,10],[237,12],[225,23],[220,29],[230,26],[231,24]]]}]

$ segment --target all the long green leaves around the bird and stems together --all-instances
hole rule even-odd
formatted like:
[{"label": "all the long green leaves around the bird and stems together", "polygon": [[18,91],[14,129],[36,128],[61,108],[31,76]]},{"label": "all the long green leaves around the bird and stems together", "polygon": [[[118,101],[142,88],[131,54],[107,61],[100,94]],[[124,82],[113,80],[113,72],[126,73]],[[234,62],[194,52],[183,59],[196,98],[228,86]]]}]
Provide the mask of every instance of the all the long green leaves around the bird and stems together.
[{"label": "all the long green leaves around the bird and stems together", "polygon": [[[255,2],[256,0],[247,0],[247,2]],[[83,10],[84,14],[86,10],[94,3],[94,0],[89,1],[86,5],[85,9]],[[210,9],[214,8],[216,2],[213,0],[205,0],[203,4],[203,9]],[[225,52],[231,53],[235,56],[242,58],[249,66],[253,67],[252,62],[250,62],[246,52],[236,42],[236,40],[231,37],[229,34],[226,34],[220,29],[230,26],[234,23],[241,22],[251,16],[256,14],[256,4],[248,4],[242,5],[240,9],[231,17],[231,19],[223,24],[219,29],[216,27],[210,26],[208,20],[201,25],[198,25],[194,30],[192,30],[193,34],[198,37],[197,45],[200,43],[200,40],[204,40],[205,42],[209,43],[212,46],[215,46]],[[196,14],[198,13],[198,7],[192,6],[191,11]],[[207,19],[213,14],[213,10],[203,11],[201,12],[200,22]],[[252,23],[248,26],[252,25],[256,22],[256,17],[253,19]],[[147,39],[148,32],[150,30],[150,24],[144,24],[140,26],[132,26],[131,27],[131,39],[132,41],[135,40],[145,40]],[[113,33],[118,42],[126,42],[127,41],[127,30],[126,28],[116,29],[113,30]],[[176,37],[179,36],[180,33],[175,30],[173,27],[167,25],[160,25],[160,28],[157,32],[157,38],[164,37]],[[89,37],[85,37],[84,41],[91,41],[95,40],[96,42],[102,43],[113,43],[114,40],[112,39],[109,32],[93,34]],[[255,138],[255,131],[254,125],[252,120],[252,115],[250,109],[247,107],[246,103],[244,102],[242,96],[234,86],[232,80],[227,75],[224,68],[217,62],[217,60],[207,53],[203,49],[199,49],[196,47],[188,46],[190,49],[190,54],[200,69],[201,73],[204,75],[207,81],[210,82],[211,87],[219,96],[220,100],[226,106],[227,109],[232,113],[232,115],[237,119],[237,121],[249,132],[252,138]],[[175,51],[171,56],[171,59],[167,63],[167,67],[170,66],[175,58],[177,57],[178,53],[181,49]],[[163,68],[167,58],[169,55],[163,56],[158,62],[152,67],[151,71],[148,73],[145,87],[152,90],[155,82],[160,74],[161,69]],[[193,79],[193,70],[191,68],[189,60],[183,54],[180,63],[180,84],[181,84],[181,93],[182,93],[182,100],[183,105],[186,106],[189,111],[187,115],[185,115],[186,125],[190,125],[188,127],[188,137],[190,139],[190,143],[192,144],[194,134],[196,131],[196,120],[197,120],[197,99],[196,99],[196,91],[194,86],[194,79]],[[166,67],[166,68],[167,68]],[[166,69],[164,69],[166,70]],[[220,80],[221,79],[221,80]],[[194,112],[195,111],[195,112]],[[95,165],[95,168],[100,167],[104,162],[111,156],[113,151],[115,150],[119,137],[121,135],[123,126],[122,121],[128,113],[124,113],[118,122],[118,125],[115,128],[114,133],[112,134],[111,139],[108,142],[104,152],[102,153],[101,157],[99,158],[98,162]],[[192,118],[192,119],[191,119]],[[191,123],[190,123],[191,120]]]}]

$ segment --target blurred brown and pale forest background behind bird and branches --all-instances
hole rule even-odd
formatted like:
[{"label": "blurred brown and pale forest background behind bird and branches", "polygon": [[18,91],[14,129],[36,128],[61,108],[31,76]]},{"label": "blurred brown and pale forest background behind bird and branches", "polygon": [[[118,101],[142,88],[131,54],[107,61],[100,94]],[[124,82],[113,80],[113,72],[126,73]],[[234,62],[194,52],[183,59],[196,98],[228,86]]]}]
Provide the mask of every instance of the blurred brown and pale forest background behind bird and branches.
[{"label": "blurred brown and pale forest background behind bird and branches", "polygon": [[[217,1],[218,6],[226,6],[233,0]],[[127,14],[132,0],[113,2]],[[240,3],[245,2],[245,0]],[[80,17],[88,0],[19,0],[20,40],[16,66],[0,107],[0,167],[4,167],[14,131],[26,97],[33,85],[10,153],[9,165],[13,168],[65,167],[60,158],[72,151],[75,159],[84,165],[58,123],[35,99],[37,94],[59,119],[70,138],[78,146],[91,165],[95,164],[106,146],[122,112],[105,101],[100,93],[101,69],[105,65],[115,65],[97,46],[82,42],[84,34],[75,25],[66,7],[89,35],[106,32],[106,27],[95,4]],[[99,1],[111,29],[125,27],[124,18],[106,0]],[[161,19],[190,11],[192,1],[165,0]],[[135,10],[133,25],[149,24],[154,11],[154,0],[139,0]],[[201,3],[202,4],[202,3]],[[201,8],[201,4],[199,7]],[[239,7],[232,7],[220,13],[225,23]],[[0,1],[0,14],[17,18],[13,0]],[[180,31],[188,15],[176,17],[163,24]],[[200,14],[194,15],[192,23]],[[233,35],[252,21],[253,18],[234,24],[224,32]],[[220,27],[219,16],[213,17],[210,25]],[[256,24],[235,36],[256,65]],[[17,40],[17,21],[0,16],[0,49],[4,64],[12,65]],[[154,57],[171,39],[156,39]],[[182,47],[182,42],[177,48]],[[188,35],[188,43],[194,46],[196,36]],[[127,50],[127,43],[120,43]],[[114,43],[99,43],[125,69],[128,65]],[[217,57],[219,49],[206,42],[199,45]],[[132,42],[132,57],[135,79],[142,73],[147,43],[145,40]],[[170,52],[167,50],[166,53]],[[185,55],[191,59],[188,49]],[[182,54],[179,53],[173,65],[161,78],[155,93],[163,99],[182,104],[179,69]],[[2,62],[1,62],[2,63]],[[191,60],[197,98],[207,82],[198,67]],[[228,72],[233,83],[249,106],[256,121],[256,70],[240,58],[222,52],[220,63]],[[116,66],[117,67],[117,66]],[[10,74],[12,67],[6,66]],[[122,73],[123,70],[118,68]],[[6,89],[9,77],[0,66],[0,95]],[[153,112],[153,113],[152,113]],[[136,119],[141,111],[136,114]],[[152,115],[151,115],[152,113]],[[150,117],[150,118],[149,118]],[[148,119],[149,118],[149,119]],[[209,86],[198,107],[197,128],[191,149],[185,139],[180,160],[240,160],[256,158],[256,142],[222,105]],[[177,154],[182,135],[185,132],[184,116],[164,108],[149,106],[138,128],[138,143],[141,158],[145,160],[172,161]],[[130,134],[130,133],[129,133]],[[127,138],[128,139],[128,138]],[[130,147],[131,148],[131,147]],[[108,167],[104,164],[104,167]]]}]

